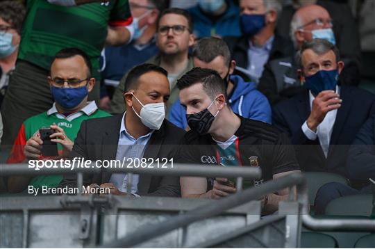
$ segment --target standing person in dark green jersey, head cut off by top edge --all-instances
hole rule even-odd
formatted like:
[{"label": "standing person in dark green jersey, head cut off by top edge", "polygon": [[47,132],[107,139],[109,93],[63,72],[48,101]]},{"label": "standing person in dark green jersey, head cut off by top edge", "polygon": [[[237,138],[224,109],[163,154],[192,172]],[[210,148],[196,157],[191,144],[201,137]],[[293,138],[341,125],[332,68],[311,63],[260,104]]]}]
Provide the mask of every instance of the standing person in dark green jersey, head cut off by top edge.
[{"label": "standing person in dark green jersey, head cut off by top edge", "polygon": [[[132,21],[127,0],[75,0],[77,6],[61,6],[72,2],[27,1],[17,64],[1,106],[3,144],[12,144],[26,118],[51,108],[53,98],[45,79],[60,49],[77,47],[85,51],[92,63],[92,76],[98,81],[98,58],[104,43],[122,45],[131,38],[130,28],[124,29]],[[99,101],[99,85],[89,100]]]}]

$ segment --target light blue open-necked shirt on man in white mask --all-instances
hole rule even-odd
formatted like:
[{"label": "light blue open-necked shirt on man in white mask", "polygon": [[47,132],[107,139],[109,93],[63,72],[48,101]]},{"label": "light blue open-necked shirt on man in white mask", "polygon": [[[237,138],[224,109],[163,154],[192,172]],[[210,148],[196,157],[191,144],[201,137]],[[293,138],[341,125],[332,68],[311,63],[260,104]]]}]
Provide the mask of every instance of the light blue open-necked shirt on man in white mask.
[{"label": "light blue open-necked shirt on man in white mask", "polygon": [[[124,166],[127,166],[131,161],[126,161],[126,159],[142,159],[144,150],[146,149],[147,143],[151,138],[153,131],[150,131],[144,136],[140,136],[138,139],[133,138],[131,134],[125,127],[125,114],[122,116],[121,127],[119,131],[119,142],[117,143],[116,160],[125,160]],[[133,174],[133,179],[131,180],[131,191],[130,193],[138,193],[138,182],[140,176]],[[115,173],[110,176],[110,182],[113,183],[119,191],[129,193],[127,188],[128,175],[122,173]]]}]

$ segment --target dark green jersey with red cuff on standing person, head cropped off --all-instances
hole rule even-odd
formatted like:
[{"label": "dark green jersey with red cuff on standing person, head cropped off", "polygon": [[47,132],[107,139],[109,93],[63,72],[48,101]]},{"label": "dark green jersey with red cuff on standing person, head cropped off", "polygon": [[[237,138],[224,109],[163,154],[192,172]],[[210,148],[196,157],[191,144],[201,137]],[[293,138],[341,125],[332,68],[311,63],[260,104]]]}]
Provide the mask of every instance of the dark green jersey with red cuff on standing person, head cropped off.
[{"label": "dark green jersey with red cuff on standing person, head cropped off", "polygon": [[49,70],[53,56],[66,47],[82,49],[99,79],[99,56],[107,27],[133,22],[128,0],[110,0],[65,7],[46,0],[28,0],[18,58]]}]

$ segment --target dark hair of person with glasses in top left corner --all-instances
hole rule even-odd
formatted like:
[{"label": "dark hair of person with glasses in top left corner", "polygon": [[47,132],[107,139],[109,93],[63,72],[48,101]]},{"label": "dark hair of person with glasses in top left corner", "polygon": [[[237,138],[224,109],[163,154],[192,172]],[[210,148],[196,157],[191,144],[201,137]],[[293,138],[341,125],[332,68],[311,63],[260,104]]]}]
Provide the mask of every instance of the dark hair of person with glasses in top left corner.
[{"label": "dark hair of person with glasses in top left corner", "polygon": [[18,1],[0,1],[0,17],[21,34],[26,10]]}]

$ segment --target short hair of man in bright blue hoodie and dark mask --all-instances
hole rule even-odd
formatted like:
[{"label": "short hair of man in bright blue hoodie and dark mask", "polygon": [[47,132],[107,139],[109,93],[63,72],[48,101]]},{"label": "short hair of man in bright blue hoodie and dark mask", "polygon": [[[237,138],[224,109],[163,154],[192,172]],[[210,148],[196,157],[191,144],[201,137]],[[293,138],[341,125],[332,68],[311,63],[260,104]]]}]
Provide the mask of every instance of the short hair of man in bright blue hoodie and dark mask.
[{"label": "short hair of man in bright blue hoodie and dark mask", "polygon": [[192,56],[205,63],[210,63],[217,56],[223,56],[226,65],[231,63],[231,51],[229,51],[228,45],[226,45],[224,40],[215,37],[202,38],[199,40],[197,44],[194,45]]}]

